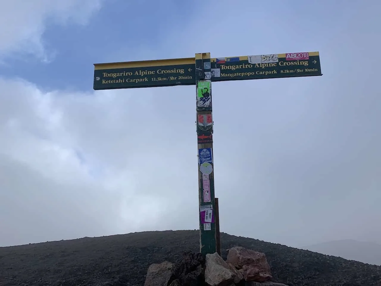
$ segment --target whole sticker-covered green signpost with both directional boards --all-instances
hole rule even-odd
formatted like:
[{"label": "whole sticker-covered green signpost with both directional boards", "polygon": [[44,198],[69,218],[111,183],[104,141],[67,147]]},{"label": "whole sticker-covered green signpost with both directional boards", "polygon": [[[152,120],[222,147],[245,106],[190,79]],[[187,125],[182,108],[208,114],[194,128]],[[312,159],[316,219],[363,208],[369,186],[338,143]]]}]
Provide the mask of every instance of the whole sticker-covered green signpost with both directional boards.
[{"label": "whole sticker-covered green signpost with both directional boards", "polygon": [[219,251],[213,163],[211,83],[226,80],[322,76],[319,52],[94,64],[94,90],[196,85],[199,222],[202,255]]}]

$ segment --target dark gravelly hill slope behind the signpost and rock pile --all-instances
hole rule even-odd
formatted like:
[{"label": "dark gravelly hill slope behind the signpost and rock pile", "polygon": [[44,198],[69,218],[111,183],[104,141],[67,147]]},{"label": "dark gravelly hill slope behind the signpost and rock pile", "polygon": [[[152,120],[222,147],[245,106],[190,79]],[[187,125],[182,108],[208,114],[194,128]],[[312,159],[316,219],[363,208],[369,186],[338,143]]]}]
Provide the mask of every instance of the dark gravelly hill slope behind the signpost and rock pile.
[{"label": "dark gravelly hill slope behind the signpost and rock pile", "polygon": [[[381,267],[221,233],[221,256],[243,246],[264,252],[274,279],[293,286],[380,286]],[[0,285],[142,286],[147,268],[199,250],[199,231],[126,235],[0,247]]]}]

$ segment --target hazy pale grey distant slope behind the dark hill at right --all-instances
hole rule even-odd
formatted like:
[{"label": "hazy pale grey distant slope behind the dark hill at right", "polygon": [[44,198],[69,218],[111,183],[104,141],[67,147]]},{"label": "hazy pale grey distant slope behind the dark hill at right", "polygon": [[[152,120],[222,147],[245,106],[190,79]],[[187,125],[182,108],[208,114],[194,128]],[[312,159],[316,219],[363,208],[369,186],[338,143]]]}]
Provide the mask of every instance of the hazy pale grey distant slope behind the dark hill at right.
[{"label": "hazy pale grey distant slope behind the dark hill at right", "polygon": [[381,265],[381,244],[377,243],[344,239],[305,246],[303,249],[368,264]]}]

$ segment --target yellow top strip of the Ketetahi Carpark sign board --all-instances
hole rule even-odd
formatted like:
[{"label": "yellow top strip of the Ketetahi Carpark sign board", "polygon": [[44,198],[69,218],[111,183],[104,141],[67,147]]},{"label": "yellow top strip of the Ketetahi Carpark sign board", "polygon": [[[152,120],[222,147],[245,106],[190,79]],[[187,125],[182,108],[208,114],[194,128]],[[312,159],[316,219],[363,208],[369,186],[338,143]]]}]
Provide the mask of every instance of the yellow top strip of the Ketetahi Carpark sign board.
[{"label": "yellow top strip of the Ketetahi Carpark sign board", "polygon": [[94,64],[94,69],[123,69],[128,67],[148,67],[148,66],[177,66],[181,64],[195,64],[195,58],[180,59],[155,59],[153,61],[125,61],[120,63]]}]

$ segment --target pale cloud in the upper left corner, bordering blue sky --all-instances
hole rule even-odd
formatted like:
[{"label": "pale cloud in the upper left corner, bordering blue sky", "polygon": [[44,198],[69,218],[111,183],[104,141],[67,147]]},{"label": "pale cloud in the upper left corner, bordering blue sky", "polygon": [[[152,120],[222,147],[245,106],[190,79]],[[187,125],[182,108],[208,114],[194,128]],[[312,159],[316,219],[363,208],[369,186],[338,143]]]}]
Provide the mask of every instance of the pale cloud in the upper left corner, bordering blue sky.
[{"label": "pale cloud in the upper left corner, bordering blue sky", "polygon": [[46,49],[45,30],[68,22],[87,24],[100,5],[101,0],[1,0],[0,59],[26,54],[50,61],[55,51]]}]

